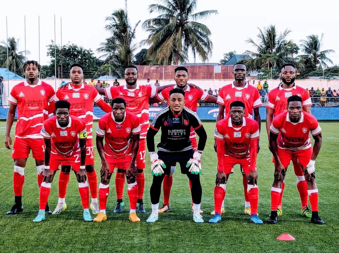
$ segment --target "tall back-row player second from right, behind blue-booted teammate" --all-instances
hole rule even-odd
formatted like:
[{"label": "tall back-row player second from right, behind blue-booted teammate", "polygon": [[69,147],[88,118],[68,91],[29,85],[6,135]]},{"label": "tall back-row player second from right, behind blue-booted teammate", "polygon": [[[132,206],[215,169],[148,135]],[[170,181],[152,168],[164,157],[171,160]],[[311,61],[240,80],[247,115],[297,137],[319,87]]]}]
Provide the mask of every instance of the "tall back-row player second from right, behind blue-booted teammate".
[{"label": "tall back-row player second from right, behind blue-booted teammate", "polygon": [[[261,127],[261,119],[259,114],[259,107],[261,106],[261,100],[257,88],[249,85],[246,80],[246,66],[242,62],[237,62],[233,67],[234,82],[233,84],[226,85],[221,88],[218,101],[219,113],[217,115],[216,123],[224,118],[224,113],[227,115],[230,113],[230,104],[233,101],[241,101],[245,104],[244,117],[252,119],[252,113],[254,111],[254,120],[258,123],[259,132]],[[216,150],[216,144],[214,144]],[[216,150],[217,151],[217,150]],[[259,142],[258,150],[259,152]],[[240,168],[242,170],[242,168]],[[242,172],[242,184],[244,186],[245,196],[245,214],[251,215],[251,203],[247,196],[247,180],[245,174]],[[222,213],[224,209],[222,207]],[[214,213],[211,213],[214,215]]]}]

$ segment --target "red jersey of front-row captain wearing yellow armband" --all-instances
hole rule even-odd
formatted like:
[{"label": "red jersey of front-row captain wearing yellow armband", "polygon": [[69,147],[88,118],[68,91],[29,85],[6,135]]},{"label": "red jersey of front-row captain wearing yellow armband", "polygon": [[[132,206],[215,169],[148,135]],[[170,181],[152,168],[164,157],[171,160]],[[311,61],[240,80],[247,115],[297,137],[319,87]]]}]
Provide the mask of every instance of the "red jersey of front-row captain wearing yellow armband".
[{"label": "red jersey of front-row captain wearing yellow armband", "polygon": [[69,123],[66,127],[61,127],[57,116],[53,116],[43,123],[41,129],[41,135],[51,139],[51,152],[67,157],[80,149],[78,135],[85,133],[85,122],[73,115],[69,115]]}]

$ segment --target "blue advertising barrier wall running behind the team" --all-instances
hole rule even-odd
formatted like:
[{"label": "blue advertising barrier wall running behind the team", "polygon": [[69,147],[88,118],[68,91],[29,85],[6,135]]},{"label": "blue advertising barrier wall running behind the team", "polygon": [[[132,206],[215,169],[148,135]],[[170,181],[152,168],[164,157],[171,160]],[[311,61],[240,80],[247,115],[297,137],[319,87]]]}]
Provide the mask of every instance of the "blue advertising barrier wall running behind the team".
[{"label": "blue advertising barrier wall running behind the team", "polygon": [[[164,107],[150,107],[149,119],[152,120],[155,114]],[[0,119],[6,119],[8,112],[8,106],[0,106]],[[219,107],[198,107],[197,114],[201,120],[216,120]],[[259,113],[262,120],[266,119],[266,108],[260,107]],[[94,118],[98,119],[103,112],[99,107],[94,107]],[[317,120],[333,120],[339,121],[339,107],[312,107],[312,114]]]}]

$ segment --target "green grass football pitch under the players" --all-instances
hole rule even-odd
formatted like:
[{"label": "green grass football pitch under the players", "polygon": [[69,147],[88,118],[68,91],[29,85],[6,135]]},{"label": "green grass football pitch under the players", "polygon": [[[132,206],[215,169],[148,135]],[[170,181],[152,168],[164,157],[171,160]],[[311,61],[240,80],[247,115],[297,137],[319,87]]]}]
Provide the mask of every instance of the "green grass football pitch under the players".
[{"label": "green grass football pitch under the players", "polygon": [[[259,182],[259,217],[267,221],[271,206],[273,180],[272,155],[267,147],[265,123],[262,124],[261,149],[257,159]],[[97,122],[94,123],[96,129]],[[316,162],[316,181],[319,188],[319,214],[326,224],[319,226],[300,215],[300,197],[292,164],[287,171],[283,198],[283,216],[276,225],[255,225],[244,215],[244,197],[239,165],[226,186],[225,214],[218,224],[208,224],[214,206],[214,182],[216,175],[216,153],[213,149],[215,123],[205,122],[208,139],[202,156],[201,184],[203,190],[201,208],[204,210],[203,224],[195,224],[191,211],[191,196],[188,179],[177,171],[170,198],[171,212],[159,214],[154,224],[146,223],[151,212],[149,188],[152,183],[149,157],[146,155],[144,203],[146,214],[138,214],[140,223],[128,221],[128,196],[125,185],[126,207],[122,214],[113,214],[116,202],[114,178],[107,201],[107,221],[101,223],[82,220],[81,201],[74,174],[69,180],[66,203],[67,210],[61,215],[46,216],[41,223],[32,219],[38,213],[39,189],[37,171],[32,157],[27,161],[23,187],[24,213],[5,215],[12,207],[13,160],[11,151],[0,149],[0,252],[338,252],[338,142],[339,123],[320,123],[323,130],[323,145]],[[0,122],[4,135],[5,122]],[[14,129],[14,128],[13,128]],[[12,131],[14,138],[14,131]],[[4,138],[2,139],[4,143]],[[156,136],[156,142],[160,135]],[[94,141],[95,143],[95,141]],[[96,151],[96,149],[95,149]],[[99,180],[100,158],[96,151],[96,170]],[[53,211],[58,200],[58,174],[52,183],[49,206]],[[100,181],[100,180],[99,180]],[[160,197],[160,205],[163,197]],[[94,218],[95,216],[93,216]],[[277,241],[282,233],[289,233],[295,241]]]}]

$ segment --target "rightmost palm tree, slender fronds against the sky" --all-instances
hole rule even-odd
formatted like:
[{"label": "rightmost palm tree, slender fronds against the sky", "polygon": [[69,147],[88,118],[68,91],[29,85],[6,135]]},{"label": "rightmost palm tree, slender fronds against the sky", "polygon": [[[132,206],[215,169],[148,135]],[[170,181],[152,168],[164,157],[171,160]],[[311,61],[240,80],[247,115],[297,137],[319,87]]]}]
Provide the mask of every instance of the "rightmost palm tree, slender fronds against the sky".
[{"label": "rightmost palm tree, slender fronds against the sky", "polygon": [[326,62],[330,62],[333,64],[333,61],[327,57],[330,53],[335,53],[334,50],[328,49],[320,51],[320,48],[322,46],[324,34],[321,34],[321,38],[319,39],[318,35],[308,35],[306,36],[306,40],[302,39],[300,40],[300,49],[304,53],[304,55],[298,55],[298,58],[308,58],[310,57],[312,59],[312,62],[319,66],[327,68]]}]

